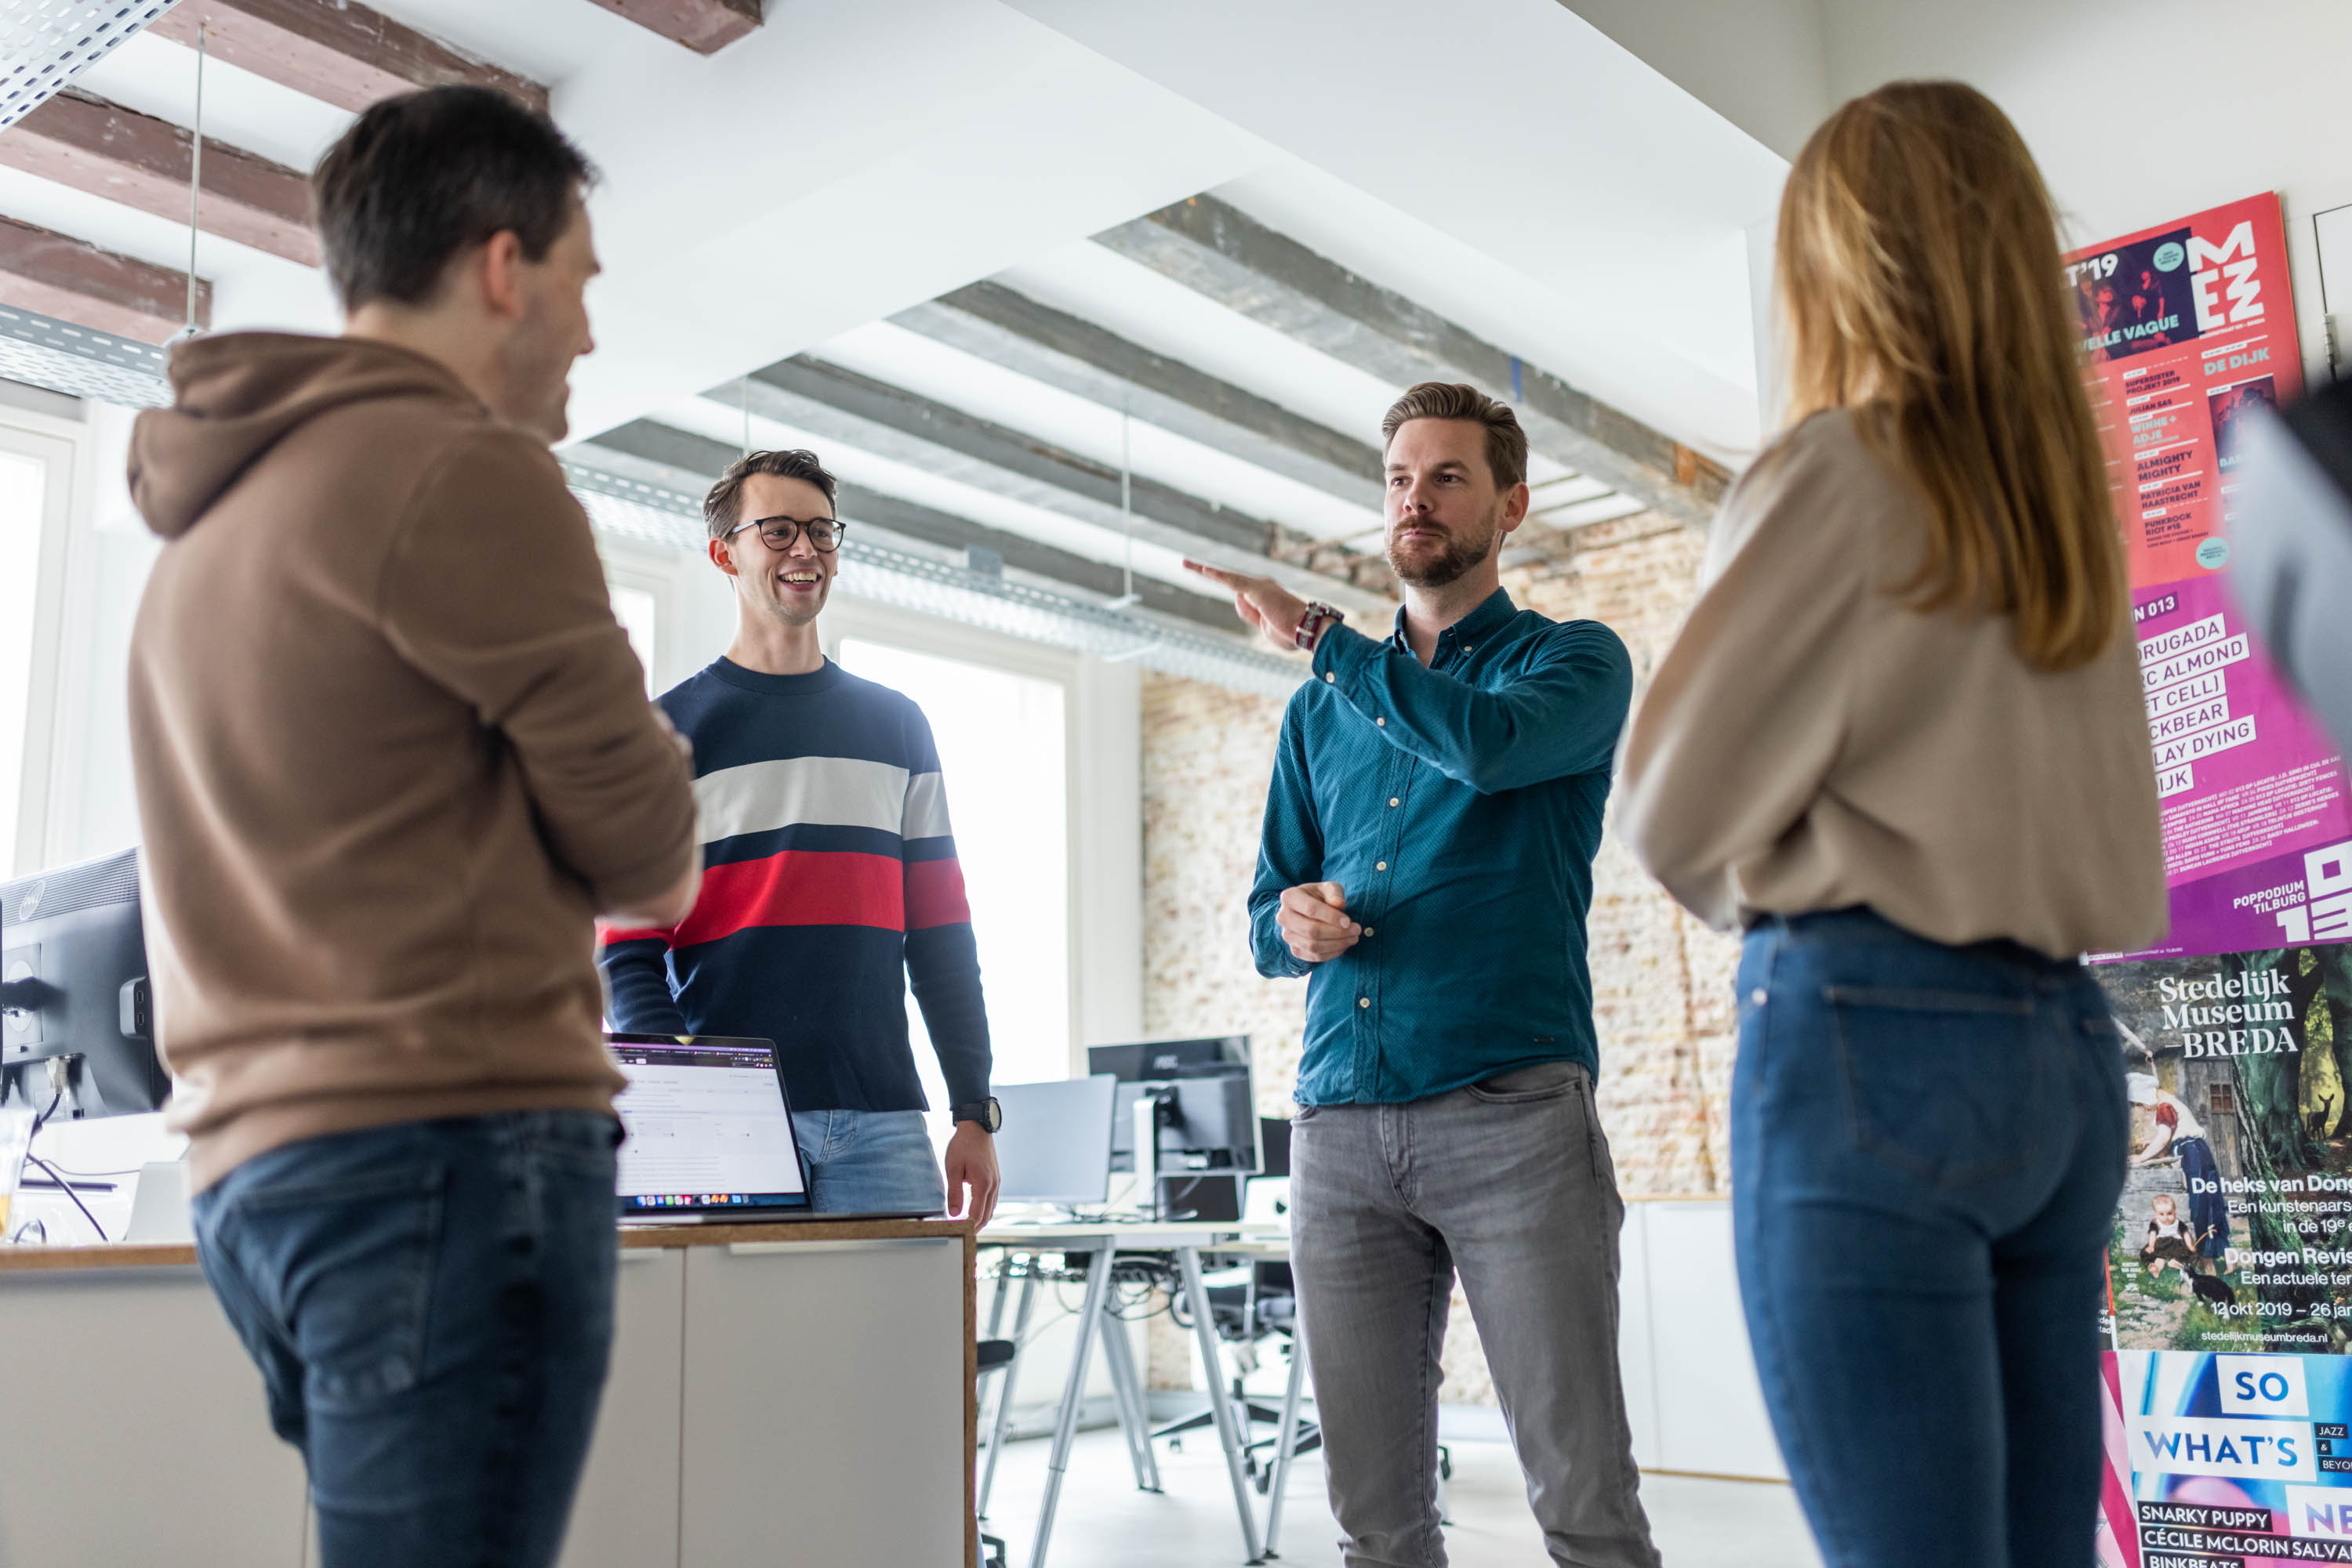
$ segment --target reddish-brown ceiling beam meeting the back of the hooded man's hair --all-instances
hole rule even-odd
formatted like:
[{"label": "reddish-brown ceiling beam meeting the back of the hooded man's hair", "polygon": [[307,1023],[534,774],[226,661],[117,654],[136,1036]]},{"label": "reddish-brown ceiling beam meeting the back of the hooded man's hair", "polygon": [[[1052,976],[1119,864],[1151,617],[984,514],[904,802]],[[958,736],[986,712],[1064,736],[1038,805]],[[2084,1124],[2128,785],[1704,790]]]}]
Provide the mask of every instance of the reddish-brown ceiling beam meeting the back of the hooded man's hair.
[{"label": "reddish-brown ceiling beam meeting the back of the hooded man's hair", "polygon": [[[193,148],[169,120],[66,89],[0,134],[0,165],[186,223]],[[212,136],[202,179],[207,235],[318,266],[308,179]]]}]

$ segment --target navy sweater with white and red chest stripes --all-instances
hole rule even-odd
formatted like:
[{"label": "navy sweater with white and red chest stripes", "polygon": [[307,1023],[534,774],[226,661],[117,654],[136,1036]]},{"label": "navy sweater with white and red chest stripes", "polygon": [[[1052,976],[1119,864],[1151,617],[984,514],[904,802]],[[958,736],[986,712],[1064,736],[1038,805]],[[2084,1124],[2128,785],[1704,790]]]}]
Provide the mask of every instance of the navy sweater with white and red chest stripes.
[{"label": "navy sweater with white and red chest stripes", "polygon": [[602,933],[616,1030],[774,1039],[793,1110],[927,1110],[906,985],[950,1103],[988,1093],[988,1013],[922,710],[833,661],[727,658],[661,696],[694,743],[703,891],[668,931]]}]

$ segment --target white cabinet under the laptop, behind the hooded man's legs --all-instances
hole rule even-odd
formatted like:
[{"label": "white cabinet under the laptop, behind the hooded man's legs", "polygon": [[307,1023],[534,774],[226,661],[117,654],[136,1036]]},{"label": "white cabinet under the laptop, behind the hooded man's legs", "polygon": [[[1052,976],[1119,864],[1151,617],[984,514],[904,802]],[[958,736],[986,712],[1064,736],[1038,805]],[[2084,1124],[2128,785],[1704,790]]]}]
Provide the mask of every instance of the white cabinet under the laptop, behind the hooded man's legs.
[{"label": "white cabinet under the laptop, behind the hooded man's legs", "polygon": [[[193,1248],[0,1248],[0,1568],[315,1563]],[[969,1563],[969,1225],[628,1234],[562,1568]]]}]

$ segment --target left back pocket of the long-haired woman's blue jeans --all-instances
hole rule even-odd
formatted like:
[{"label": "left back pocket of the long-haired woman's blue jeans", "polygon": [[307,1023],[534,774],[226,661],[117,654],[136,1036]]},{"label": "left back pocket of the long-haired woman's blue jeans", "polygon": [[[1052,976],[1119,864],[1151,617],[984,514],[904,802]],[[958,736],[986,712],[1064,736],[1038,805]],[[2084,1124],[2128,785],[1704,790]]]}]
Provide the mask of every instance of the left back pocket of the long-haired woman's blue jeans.
[{"label": "left back pocket of the long-haired woman's blue jeans", "polygon": [[1823,999],[1865,1154],[1938,1187],[2025,1166],[2042,1093],[2030,997],[1832,985]]}]

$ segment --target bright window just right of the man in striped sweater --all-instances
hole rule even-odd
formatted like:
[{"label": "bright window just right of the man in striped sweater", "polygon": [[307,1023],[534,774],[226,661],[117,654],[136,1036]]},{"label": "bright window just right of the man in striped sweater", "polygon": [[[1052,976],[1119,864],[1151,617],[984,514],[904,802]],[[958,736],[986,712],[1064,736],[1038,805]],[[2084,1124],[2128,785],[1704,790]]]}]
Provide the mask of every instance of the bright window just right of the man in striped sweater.
[{"label": "bright window just right of the man in striped sweater", "polygon": [[[915,698],[948,783],[955,853],[981,947],[995,1079],[1070,1074],[1070,773],[1065,689],[988,665],[844,639],[851,675]],[[908,997],[915,1065],[946,1107],[938,1058]]]}]

